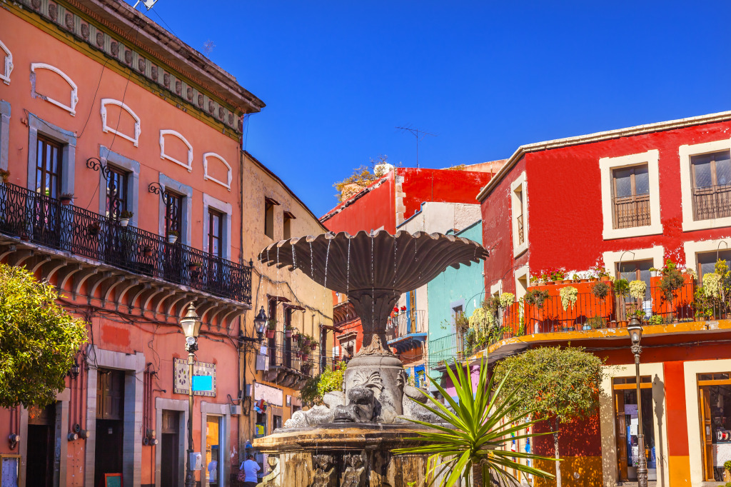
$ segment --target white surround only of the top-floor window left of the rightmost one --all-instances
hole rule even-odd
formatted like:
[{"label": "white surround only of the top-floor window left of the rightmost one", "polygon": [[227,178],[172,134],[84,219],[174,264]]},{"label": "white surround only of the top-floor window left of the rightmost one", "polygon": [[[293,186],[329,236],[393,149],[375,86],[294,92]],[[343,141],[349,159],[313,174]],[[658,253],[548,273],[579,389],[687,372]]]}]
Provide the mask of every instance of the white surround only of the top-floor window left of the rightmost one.
[{"label": "white surround only of the top-floor window left of the rightmost one", "polygon": [[[599,171],[602,175],[602,219],[604,220],[604,231],[602,237],[605,240],[614,238],[639,237],[640,235],[659,235],[662,233],[662,222],[660,222],[660,177],[659,177],[660,153],[657,149],[640,154],[629,154],[619,157],[602,157],[599,159]],[[647,165],[648,179],[650,184],[650,224],[642,227],[614,228],[613,205],[612,205],[612,171],[618,167]]]}]

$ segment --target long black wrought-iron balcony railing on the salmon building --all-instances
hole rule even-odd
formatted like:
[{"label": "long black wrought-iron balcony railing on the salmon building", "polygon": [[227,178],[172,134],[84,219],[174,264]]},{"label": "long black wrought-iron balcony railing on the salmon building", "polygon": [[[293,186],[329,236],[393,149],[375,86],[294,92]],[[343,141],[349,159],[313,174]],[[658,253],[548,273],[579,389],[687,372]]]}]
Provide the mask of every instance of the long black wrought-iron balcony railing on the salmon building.
[{"label": "long black wrought-iron balcony railing on the salmon building", "polygon": [[99,260],[241,303],[251,303],[251,267],[156,233],[63,205],[15,184],[0,184],[0,233]]}]

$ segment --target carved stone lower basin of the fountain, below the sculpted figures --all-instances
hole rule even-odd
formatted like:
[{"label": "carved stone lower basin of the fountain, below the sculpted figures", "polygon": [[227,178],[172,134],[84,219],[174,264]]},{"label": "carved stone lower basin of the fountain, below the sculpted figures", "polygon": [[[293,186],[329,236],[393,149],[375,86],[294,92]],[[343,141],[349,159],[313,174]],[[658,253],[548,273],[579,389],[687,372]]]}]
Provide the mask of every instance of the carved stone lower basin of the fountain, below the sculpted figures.
[{"label": "carved stone lower basin of the fountain, below the sculpted figures", "polygon": [[254,440],[273,469],[264,487],[409,487],[422,485],[426,455],[399,455],[418,445],[412,424],[325,423],[278,430]]}]

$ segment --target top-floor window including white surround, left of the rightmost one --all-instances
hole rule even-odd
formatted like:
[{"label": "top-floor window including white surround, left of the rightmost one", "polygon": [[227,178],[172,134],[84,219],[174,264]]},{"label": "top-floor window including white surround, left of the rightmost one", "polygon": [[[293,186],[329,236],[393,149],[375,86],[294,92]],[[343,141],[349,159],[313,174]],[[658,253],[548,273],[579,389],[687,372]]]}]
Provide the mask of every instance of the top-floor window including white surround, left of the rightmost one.
[{"label": "top-floor window including white surround, left of the rightmost one", "polygon": [[659,151],[602,157],[602,219],[605,240],[662,233]]}]

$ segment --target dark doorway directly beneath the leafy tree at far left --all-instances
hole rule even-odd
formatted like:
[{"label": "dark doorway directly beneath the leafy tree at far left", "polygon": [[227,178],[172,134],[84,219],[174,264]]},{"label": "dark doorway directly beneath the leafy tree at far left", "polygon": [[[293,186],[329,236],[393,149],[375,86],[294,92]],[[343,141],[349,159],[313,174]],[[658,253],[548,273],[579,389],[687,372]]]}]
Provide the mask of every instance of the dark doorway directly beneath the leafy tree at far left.
[{"label": "dark doorway directly beneath the leafy tree at far left", "polygon": [[56,444],[56,404],[44,409],[31,408],[28,412],[28,456],[26,485],[53,486],[53,455]]}]

